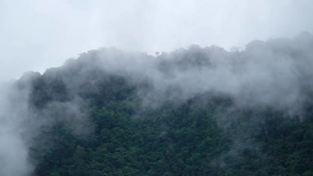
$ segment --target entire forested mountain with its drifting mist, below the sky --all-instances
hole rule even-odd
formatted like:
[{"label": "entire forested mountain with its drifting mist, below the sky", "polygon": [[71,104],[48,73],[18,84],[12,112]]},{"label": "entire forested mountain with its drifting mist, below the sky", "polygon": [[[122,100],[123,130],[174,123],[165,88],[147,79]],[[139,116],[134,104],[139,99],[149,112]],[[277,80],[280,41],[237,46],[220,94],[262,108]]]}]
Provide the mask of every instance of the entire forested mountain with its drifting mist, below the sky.
[{"label": "entire forested mountain with its drifting mist, below the sky", "polygon": [[313,176],[313,37],[99,48],[0,86],[1,176]]}]

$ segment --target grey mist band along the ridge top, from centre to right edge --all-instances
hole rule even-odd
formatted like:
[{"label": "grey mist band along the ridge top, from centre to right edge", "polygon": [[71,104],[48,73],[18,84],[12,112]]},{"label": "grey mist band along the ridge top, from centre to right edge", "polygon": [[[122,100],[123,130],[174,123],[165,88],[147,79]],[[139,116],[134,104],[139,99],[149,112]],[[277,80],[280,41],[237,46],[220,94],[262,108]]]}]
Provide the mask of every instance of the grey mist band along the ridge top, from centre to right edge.
[{"label": "grey mist band along the ridge top, from centre to right edge", "polygon": [[[312,47],[311,34],[303,32],[294,39],[252,41],[242,51],[191,45],[153,57],[102,48],[73,62],[86,62],[83,70],[99,68],[126,77],[134,85],[147,82],[151,89],[138,88],[138,94],[148,104],[215,92],[230,95],[242,106],[288,109],[300,106],[312,90]],[[73,66],[68,61],[64,67]]]}]

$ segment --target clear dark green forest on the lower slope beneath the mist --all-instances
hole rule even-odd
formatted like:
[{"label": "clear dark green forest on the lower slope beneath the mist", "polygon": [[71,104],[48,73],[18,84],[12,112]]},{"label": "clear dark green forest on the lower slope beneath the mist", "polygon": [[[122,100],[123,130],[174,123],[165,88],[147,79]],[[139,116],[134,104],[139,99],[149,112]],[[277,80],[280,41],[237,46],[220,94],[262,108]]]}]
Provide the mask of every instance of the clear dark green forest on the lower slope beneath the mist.
[{"label": "clear dark green forest on the lower slope beneath the mist", "polygon": [[[116,87],[118,85],[114,85]],[[120,85],[122,86],[122,85]],[[125,89],[119,88],[121,91]],[[106,93],[104,91],[104,93]],[[117,92],[119,93],[119,92]],[[134,96],[128,93],[125,97]],[[197,98],[187,103],[135,113],[125,99],[90,105],[95,124],[88,138],[56,125],[57,146],[40,154],[39,176],[284,176],[312,174],[313,124],[287,120],[272,110],[238,110],[221,129],[217,121],[229,103],[210,109]],[[265,116],[259,124],[253,118]],[[284,123],[281,123],[281,122]],[[264,126],[268,127],[268,134]],[[259,130],[256,130],[259,129]],[[39,155],[39,152],[35,153]]]}]

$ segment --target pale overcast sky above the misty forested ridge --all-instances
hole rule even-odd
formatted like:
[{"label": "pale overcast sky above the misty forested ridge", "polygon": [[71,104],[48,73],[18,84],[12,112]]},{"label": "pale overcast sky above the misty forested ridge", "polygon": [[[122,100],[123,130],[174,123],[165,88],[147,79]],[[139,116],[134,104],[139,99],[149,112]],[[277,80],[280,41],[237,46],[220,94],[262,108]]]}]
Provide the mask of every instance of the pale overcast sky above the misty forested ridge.
[{"label": "pale overcast sky above the misty forested ridge", "polygon": [[0,80],[98,47],[228,49],[313,32],[313,0],[0,0]]}]

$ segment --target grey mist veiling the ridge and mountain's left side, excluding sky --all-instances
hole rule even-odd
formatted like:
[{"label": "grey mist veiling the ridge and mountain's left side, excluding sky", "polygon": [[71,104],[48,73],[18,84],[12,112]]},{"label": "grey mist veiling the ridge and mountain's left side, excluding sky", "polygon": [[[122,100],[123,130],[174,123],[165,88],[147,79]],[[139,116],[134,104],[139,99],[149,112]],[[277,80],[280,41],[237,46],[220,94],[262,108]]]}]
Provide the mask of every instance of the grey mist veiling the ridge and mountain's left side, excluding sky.
[{"label": "grey mist veiling the ridge and mountain's left side, excluding sky", "polygon": [[[0,175],[29,175],[34,168],[28,157],[33,139],[53,124],[65,123],[76,135],[91,132],[88,96],[117,91],[106,89],[111,82],[134,90],[139,110],[208,93],[226,95],[240,108],[271,107],[299,114],[313,90],[313,37],[308,32],[294,39],[252,41],[245,50],[191,45],[156,54],[100,48],[43,75],[28,72],[1,85]],[[99,97],[104,103],[111,98]]]}]

